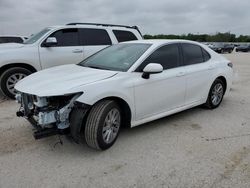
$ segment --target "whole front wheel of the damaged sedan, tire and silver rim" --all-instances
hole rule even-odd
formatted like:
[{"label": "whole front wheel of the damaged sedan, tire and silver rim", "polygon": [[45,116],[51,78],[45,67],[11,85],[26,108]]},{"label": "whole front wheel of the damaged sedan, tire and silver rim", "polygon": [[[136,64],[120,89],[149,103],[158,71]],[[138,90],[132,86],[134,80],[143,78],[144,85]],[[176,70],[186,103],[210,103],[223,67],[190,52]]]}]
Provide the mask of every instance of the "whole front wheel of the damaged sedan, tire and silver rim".
[{"label": "whole front wheel of the damaged sedan, tire and silver rim", "polygon": [[103,100],[95,104],[89,112],[85,125],[84,135],[87,145],[97,150],[110,148],[120,132],[121,114],[120,107],[115,101]]}]

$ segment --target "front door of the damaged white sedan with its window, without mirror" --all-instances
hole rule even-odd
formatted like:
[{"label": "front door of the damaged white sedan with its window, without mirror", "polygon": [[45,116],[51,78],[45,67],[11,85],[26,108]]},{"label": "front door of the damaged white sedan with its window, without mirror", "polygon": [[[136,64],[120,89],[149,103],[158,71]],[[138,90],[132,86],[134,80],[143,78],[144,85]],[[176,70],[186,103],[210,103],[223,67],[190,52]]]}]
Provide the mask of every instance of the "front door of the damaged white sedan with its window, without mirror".
[{"label": "front door of the damaged white sedan with its window, without mirror", "polygon": [[[141,77],[149,63],[159,63],[163,72]],[[185,103],[186,76],[181,66],[178,44],[169,44],[155,50],[136,70],[135,108],[136,120],[142,120],[181,107]]]}]

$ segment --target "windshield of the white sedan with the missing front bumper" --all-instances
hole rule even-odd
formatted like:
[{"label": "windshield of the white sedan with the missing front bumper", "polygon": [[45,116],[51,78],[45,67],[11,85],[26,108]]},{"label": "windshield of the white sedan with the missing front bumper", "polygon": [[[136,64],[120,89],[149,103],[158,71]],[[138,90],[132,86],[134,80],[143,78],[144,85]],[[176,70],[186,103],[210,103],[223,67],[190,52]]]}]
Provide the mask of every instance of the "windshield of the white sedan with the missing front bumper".
[{"label": "windshield of the white sedan with the missing front bumper", "polygon": [[151,44],[123,43],[105,48],[79,65],[97,69],[127,71]]}]

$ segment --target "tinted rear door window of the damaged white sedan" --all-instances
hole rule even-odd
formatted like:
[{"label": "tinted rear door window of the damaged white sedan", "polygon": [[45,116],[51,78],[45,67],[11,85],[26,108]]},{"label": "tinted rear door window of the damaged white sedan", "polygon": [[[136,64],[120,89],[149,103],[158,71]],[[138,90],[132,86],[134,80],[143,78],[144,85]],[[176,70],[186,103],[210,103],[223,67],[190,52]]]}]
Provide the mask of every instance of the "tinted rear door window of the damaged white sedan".
[{"label": "tinted rear door window of the damaged white sedan", "polygon": [[181,44],[184,64],[192,65],[204,62],[201,47],[195,44]]}]

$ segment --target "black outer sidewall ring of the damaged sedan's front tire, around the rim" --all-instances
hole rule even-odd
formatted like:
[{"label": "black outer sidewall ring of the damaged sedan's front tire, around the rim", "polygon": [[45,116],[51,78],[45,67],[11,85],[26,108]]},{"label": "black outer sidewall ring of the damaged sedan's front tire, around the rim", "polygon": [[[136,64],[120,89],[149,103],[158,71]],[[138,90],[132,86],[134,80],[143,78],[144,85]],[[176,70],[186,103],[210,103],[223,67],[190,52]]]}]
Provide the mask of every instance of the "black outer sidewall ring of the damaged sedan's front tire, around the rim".
[{"label": "black outer sidewall ring of the damaged sedan's front tire, around the rim", "polygon": [[[103,136],[102,136],[102,129],[103,129],[103,125],[104,125],[104,121],[105,121],[105,118],[107,116],[107,114],[112,110],[116,108],[119,113],[120,113],[120,127],[119,127],[119,130],[118,130],[118,133],[116,135],[116,138],[109,144],[107,144],[104,140],[103,140]],[[110,148],[116,141],[117,137],[119,136],[119,133],[120,133],[120,129],[121,129],[121,123],[122,123],[122,113],[121,113],[121,109],[120,107],[115,103],[115,102],[112,102],[110,103],[103,111],[103,113],[101,114],[101,117],[100,117],[100,121],[99,121],[99,126],[98,126],[98,129],[97,129],[97,142],[98,142],[98,145],[100,147],[100,149],[102,150],[106,150],[108,148]]]}]

